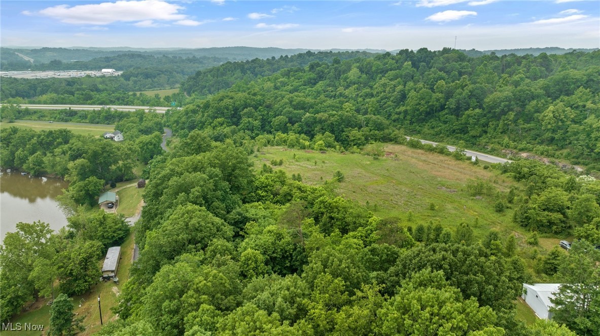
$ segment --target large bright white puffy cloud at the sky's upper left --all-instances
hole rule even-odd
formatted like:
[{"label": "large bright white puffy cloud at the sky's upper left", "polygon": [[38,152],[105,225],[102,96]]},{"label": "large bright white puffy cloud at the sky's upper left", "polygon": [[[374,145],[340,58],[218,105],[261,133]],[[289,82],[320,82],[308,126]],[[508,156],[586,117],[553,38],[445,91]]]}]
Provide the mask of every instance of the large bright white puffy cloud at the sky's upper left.
[{"label": "large bright white puffy cloud at the sky's upper left", "polygon": [[[116,1],[87,5],[57,5],[36,14],[52,17],[73,25],[108,25],[113,22],[146,22],[149,20],[185,20],[184,10],[176,4],[160,0]],[[146,23],[140,23],[145,25]]]}]

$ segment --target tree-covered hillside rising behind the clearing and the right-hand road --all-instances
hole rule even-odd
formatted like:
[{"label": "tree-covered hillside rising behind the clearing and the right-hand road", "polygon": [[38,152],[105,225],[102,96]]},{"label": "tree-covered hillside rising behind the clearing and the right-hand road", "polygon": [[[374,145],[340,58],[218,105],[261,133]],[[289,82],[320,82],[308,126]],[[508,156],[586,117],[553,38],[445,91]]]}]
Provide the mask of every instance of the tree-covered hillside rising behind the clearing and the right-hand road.
[{"label": "tree-covered hillside rising behind the clearing and the right-hand road", "polygon": [[232,89],[175,112],[172,123],[189,132],[222,120],[254,136],[329,132],[344,147],[386,141],[398,129],[598,170],[599,64],[600,52],[469,57],[420,49],[315,61],[254,81],[241,64],[226,64],[191,77],[185,90],[205,94],[205,83],[237,81]]}]

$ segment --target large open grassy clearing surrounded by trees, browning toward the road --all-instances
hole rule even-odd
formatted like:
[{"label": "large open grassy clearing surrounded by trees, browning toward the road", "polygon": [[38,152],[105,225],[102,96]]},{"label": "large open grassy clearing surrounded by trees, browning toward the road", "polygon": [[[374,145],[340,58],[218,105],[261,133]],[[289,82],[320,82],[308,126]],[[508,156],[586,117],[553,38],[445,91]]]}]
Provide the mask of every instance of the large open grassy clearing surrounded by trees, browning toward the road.
[{"label": "large open grassy clearing surrounded by trees, browning toward the road", "polygon": [[431,220],[454,229],[466,222],[476,238],[484,237],[490,229],[505,236],[517,233],[521,239],[527,234],[512,222],[514,210],[496,213],[495,196],[476,198],[466,188],[467,183],[480,178],[506,193],[518,186],[515,181],[481,165],[406,146],[387,145],[385,151],[385,157],[374,160],[360,154],[266,147],[254,160],[256,169],[260,169],[271,159],[283,159],[281,167],[273,168],[283,169],[290,176],[299,173],[304,183],[312,185],[322,185],[339,170],[344,181],[337,184],[338,194],[366,205],[379,217],[397,217],[403,225],[414,227]]}]

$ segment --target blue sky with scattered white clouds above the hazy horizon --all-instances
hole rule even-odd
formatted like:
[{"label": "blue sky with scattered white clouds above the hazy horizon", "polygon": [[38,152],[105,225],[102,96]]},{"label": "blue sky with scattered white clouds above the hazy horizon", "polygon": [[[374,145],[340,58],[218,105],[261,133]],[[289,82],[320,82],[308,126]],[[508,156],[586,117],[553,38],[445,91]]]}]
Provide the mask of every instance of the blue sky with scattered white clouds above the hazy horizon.
[{"label": "blue sky with scattered white clouds above the hazy horizon", "polygon": [[600,47],[600,1],[5,1],[2,46]]}]

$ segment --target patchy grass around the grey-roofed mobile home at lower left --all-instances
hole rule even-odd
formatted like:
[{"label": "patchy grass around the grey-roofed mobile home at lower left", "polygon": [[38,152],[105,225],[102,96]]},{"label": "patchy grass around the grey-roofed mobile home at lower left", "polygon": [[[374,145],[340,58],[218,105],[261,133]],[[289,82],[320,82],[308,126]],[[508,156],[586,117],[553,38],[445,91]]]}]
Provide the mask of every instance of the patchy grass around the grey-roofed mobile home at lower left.
[{"label": "patchy grass around the grey-roofed mobile home at lower left", "polygon": [[[77,316],[84,316],[83,325],[85,332],[83,335],[91,335],[100,330],[100,311],[98,310],[98,294],[100,294],[100,303],[102,308],[102,319],[104,323],[109,320],[116,319],[115,313],[110,308],[117,304],[117,296],[121,293],[121,286],[129,279],[129,269],[131,268],[131,256],[133,253],[133,232],[131,232],[121,244],[121,262],[119,262],[119,284],[112,281],[100,282],[92,286],[91,290],[84,295],[74,296],[73,305],[74,313]],[[98,261],[100,267],[104,262],[104,258]],[[17,315],[11,322],[13,328],[16,328],[17,323],[31,323],[35,325],[44,325],[44,332],[47,334],[50,326],[50,306],[46,305],[49,299],[40,299],[32,305],[31,310]],[[2,336],[7,335],[31,335],[37,336],[39,331],[2,331]]]}]

